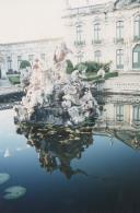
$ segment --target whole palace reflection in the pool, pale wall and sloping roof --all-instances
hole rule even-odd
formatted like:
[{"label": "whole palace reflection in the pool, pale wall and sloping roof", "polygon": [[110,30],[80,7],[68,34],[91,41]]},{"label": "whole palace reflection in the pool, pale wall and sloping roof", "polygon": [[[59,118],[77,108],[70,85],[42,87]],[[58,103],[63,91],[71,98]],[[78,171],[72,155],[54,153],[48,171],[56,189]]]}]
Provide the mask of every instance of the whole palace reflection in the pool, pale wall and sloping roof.
[{"label": "whole palace reflection in the pool, pale wall and sloping roof", "polygon": [[105,97],[101,117],[96,120],[94,131],[109,134],[140,149],[140,97],[115,95]]}]

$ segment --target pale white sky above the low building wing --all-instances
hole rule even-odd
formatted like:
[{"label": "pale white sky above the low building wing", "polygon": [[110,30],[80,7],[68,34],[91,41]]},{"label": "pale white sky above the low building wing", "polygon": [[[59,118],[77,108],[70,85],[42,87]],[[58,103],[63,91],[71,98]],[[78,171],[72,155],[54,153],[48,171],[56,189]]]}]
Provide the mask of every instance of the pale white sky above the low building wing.
[{"label": "pale white sky above the low building wing", "polygon": [[0,44],[61,37],[65,5],[65,0],[0,0]]}]

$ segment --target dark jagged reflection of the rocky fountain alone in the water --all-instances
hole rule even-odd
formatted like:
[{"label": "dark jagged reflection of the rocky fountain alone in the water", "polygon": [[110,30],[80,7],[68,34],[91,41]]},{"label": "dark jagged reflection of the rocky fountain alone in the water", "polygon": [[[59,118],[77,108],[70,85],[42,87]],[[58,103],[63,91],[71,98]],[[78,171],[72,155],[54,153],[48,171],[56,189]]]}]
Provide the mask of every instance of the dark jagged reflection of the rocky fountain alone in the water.
[{"label": "dark jagged reflection of the rocky fountain alone in the water", "polygon": [[82,152],[93,143],[92,129],[40,128],[22,126],[18,129],[27,138],[27,143],[39,154],[40,166],[48,173],[59,169],[69,179],[72,175],[86,175],[73,169],[71,161],[81,158]]}]

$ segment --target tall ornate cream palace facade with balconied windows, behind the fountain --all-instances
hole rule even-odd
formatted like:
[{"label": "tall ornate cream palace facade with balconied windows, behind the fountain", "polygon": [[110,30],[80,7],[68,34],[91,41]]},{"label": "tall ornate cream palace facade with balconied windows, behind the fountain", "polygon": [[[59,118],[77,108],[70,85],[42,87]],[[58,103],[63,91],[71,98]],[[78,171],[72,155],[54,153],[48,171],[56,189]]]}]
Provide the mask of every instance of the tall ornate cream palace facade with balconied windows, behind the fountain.
[{"label": "tall ornate cream palace facade with balconied windows, behind the fountain", "polygon": [[63,20],[75,62],[113,61],[113,70],[140,70],[140,1],[71,2]]}]

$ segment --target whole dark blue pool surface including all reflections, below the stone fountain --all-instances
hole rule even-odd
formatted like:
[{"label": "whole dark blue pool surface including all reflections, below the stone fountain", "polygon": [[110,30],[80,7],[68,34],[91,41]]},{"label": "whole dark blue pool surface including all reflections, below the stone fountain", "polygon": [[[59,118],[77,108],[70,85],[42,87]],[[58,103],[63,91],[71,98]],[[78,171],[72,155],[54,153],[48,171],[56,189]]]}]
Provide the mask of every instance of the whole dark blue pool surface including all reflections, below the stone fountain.
[{"label": "whole dark blue pool surface including all reflections, below the stone fountain", "polygon": [[[0,111],[1,213],[140,212],[139,100],[101,108],[77,130],[16,127],[12,109]],[[5,199],[11,190],[20,197]]]}]

